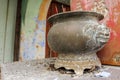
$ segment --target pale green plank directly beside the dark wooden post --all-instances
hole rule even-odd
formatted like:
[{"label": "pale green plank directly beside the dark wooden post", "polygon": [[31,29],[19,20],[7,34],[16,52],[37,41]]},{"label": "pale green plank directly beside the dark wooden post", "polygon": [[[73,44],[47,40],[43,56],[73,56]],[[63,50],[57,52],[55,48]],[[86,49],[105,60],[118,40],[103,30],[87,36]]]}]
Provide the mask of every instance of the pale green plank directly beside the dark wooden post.
[{"label": "pale green plank directly beside the dark wooden post", "polygon": [[5,36],[4,62],[13,61],[16,10],[17,10],[17,0],[9,0],[7,25],[6,25],[6,36]]}]

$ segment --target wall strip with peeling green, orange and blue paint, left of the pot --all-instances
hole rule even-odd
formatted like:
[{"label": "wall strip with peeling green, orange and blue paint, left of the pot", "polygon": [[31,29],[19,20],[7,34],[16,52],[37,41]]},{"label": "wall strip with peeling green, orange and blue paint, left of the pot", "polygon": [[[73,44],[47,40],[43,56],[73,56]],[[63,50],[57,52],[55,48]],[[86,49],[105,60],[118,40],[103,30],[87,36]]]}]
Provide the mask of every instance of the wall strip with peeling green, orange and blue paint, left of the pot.
[{"label": "wall strip with peeling green, orange and blue paint, left of the pot", "polygon": [[46,16],[51,0],[23,0],[20,60],[45,58]]}]

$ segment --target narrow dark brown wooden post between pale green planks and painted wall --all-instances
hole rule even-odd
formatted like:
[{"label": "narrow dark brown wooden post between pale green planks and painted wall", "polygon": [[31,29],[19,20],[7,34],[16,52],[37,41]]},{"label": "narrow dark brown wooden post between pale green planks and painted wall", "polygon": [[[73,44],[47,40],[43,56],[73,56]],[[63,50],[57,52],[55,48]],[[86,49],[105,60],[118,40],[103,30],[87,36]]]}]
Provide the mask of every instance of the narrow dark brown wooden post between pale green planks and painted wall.
[{"label": "narrow dark brown wooden post between pale green planks and painted wall", "polygon": [[22,0],[18,0],[16,27],[15,27],[15,40],[14,40],[14,61],[19,60],[19,54],[20,54],[21,7],[22,7]]}]

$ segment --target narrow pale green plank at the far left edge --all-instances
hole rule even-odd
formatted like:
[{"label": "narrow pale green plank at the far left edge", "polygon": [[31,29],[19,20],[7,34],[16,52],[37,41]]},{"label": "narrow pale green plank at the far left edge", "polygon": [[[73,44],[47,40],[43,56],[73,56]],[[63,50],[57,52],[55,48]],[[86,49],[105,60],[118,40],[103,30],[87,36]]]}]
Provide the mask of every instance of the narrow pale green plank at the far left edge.
[{"label": "narrow pale green plank at the far left edge", "polygon": [[3,63],[8,0],[0,0],[0,63]]}]

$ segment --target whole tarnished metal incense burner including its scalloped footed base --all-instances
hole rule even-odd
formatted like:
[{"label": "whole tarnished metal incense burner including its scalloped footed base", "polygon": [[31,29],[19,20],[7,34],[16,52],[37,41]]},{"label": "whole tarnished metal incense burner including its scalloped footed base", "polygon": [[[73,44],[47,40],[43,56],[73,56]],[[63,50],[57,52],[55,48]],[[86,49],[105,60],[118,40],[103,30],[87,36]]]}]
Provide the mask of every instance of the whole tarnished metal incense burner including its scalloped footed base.
[{"label": "whole tarnished metal incense burner including its scalloped footed base", "polygon": [[103,15],[96,12],[64,12],[51,16],[49,47],[58,53],[55,68],[64,67],[82,75],[85,69],[101,67],[96,55],[110,37],[109,29],[100,24]]}]

